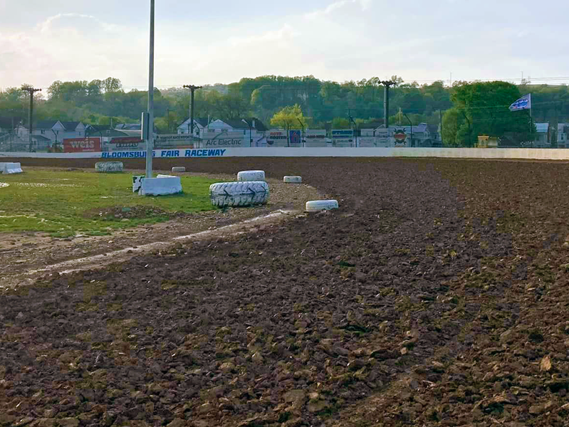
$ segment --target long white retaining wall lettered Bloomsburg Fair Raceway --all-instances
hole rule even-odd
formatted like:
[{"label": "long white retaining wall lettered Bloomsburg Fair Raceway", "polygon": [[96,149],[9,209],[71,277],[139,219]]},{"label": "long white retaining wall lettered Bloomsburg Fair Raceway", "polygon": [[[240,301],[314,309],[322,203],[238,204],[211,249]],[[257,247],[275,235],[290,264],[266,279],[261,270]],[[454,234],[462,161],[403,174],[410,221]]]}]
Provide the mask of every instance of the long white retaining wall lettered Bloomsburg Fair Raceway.
[{"label": "long white retaining wall lettered Bloomsburg Fair Raceway", "polygon": [[[93,153],[0,153],[2,157],[38,159],[144,159],[145,151]],[[394,148],[394,147],[252,147],[154,150],[159,158],[203,157],[447,157],[469,159],[569,160],[569,149],[538,148]]]}]

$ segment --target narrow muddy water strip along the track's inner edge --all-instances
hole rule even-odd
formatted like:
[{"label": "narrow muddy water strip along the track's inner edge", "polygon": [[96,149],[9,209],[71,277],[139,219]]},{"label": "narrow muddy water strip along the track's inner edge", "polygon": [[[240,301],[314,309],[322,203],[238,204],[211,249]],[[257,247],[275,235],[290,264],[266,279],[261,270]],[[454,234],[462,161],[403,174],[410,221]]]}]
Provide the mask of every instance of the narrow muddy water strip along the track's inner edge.
[{"label": "narrow muddy water strip along the track's inner edge", "polygon": [[[247,219],[239,223],[230,224],[229,226],[223,226],[219,228],[214,228],[213,230],[199,231],[198,233],[188,234],[187,236],[178,236],[167,242],[155,242],[147,243],[146,245],[137,246],[136,248],[124,248],[118,251],[112,251],[108,253],[101,253],[100,255],[88,256],[85,258],[78,258],[75,260],[64,261],[63,263],[58,263],[54,265],[48,265],[46,268],[40,268],[38,270],[29,270],[26,275],[33,275],[37,273],[45,273],[47,271],[58,270],[59,273],[73,273],[74,271],[85,270],[88,268],[99,268],[103,261],[108,264],[112,260],[113,263],[120,260],[127,260],[134,257],[139,253],[147,253],[155,249],[168,248],[172,245],[173,241],[181,241],[187,239],[204,238],[207,236],[214,236],[219,233],[229,232],[234,236],[239,234],[247,233],[247,231],[237,231],[237,228],[246,226],[254,223],[263,223],[266,221],[271,221],[274,218],[278,218],[283,215],[296,214],[296,211],[274,211],[271,214],[256,216],[255,218]],[[234,230],[235,229],[235,230]],[[233,232],[231,232],[233,231]]]}]

